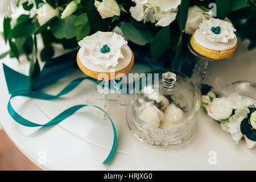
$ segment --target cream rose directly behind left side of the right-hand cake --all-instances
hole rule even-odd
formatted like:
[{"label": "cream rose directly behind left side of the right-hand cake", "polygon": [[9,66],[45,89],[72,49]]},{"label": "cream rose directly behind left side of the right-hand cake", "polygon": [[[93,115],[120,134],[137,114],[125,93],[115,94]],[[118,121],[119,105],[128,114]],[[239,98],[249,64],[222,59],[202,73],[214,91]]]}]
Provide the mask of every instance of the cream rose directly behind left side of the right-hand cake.
[{"label": "cream rose directly behind left side of the right-hand cake", "polygon": [[206,18],[203,13],[204,11],[198,6],[189,7],[188,19],[185,26],[186,34],[193,34],[193,32],[199,27],[199,24]]}]

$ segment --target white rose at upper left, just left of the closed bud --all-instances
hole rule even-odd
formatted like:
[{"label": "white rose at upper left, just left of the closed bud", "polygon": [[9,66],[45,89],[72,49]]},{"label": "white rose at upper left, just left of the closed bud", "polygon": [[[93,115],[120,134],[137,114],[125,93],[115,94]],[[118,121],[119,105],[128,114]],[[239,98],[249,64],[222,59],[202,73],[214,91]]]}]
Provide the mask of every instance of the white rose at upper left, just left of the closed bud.
[{"label": "white rose at upper left, just left of the closed bud", "polygon": [[49,19],[54,16],[59,16],[60,12],[58,9],[53,9],[49,4],[45,4],[41,6],[39,9],[36,9],[36,18],[38,19],[38,23],[42,26],[44,23],[48,22]]}]

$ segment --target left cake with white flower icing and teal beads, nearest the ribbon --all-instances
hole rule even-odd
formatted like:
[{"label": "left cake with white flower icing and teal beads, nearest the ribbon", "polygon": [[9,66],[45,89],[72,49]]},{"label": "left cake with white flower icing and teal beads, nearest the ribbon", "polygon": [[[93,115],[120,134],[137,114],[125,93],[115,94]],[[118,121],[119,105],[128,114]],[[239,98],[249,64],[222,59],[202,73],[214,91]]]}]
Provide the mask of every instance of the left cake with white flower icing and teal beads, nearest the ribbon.
[{"label": "left cake with white flower icing and teal beads, nearest the ribbon", "polygon": [[[133,67],[134,55],[127,41],[115,32],[98,31],[79,42],[77,64],[82,72],[98,80],[121,77]],[[105,73],[106,77],[100,77]]]}]

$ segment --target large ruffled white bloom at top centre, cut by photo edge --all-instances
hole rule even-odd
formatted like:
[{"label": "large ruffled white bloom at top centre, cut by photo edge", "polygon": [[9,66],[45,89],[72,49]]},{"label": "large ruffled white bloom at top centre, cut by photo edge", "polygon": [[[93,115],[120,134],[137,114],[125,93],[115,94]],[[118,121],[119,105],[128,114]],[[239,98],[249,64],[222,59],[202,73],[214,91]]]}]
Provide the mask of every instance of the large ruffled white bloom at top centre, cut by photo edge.
[{"label": "large ruffled white bloom at top centre, cut by photo edge", "polygon": [[135,20],[165,27],[175,20],[181,0],[133,0],[133,2],[136,6],[130,8],[130,13]]}]

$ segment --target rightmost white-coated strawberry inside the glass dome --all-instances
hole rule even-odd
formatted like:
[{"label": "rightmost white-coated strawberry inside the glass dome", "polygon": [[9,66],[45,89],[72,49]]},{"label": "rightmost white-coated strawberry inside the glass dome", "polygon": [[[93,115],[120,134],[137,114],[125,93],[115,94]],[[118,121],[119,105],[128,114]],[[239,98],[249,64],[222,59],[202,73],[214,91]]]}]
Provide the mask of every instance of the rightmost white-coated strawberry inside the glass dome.
[{"label": "rightmost white-coated strawberry inside the glass dome", "polygon": [[162,129],[177,129],[183,125],[180,123],[184,117],[184,111],[177,107],[175,104],[171,104],[164,111],[164,118],[162,122]]}]

